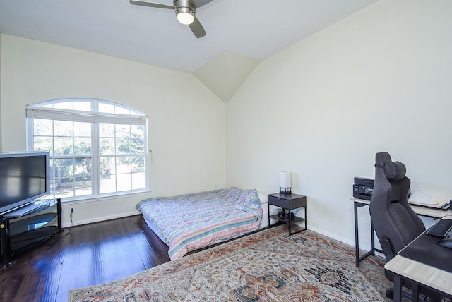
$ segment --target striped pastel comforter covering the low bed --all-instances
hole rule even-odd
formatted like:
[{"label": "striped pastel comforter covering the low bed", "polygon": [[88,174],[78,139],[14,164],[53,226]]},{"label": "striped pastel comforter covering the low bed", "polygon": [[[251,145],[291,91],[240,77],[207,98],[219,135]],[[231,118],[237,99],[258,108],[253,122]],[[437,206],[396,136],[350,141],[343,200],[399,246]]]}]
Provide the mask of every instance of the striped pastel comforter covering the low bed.
[{"label": "striped pastel comforter covering the low bed", "polygon": [[136,205],[169,246],[171,260],[258,229],[263,210],[256,190],[221,190],[149,198]]}]

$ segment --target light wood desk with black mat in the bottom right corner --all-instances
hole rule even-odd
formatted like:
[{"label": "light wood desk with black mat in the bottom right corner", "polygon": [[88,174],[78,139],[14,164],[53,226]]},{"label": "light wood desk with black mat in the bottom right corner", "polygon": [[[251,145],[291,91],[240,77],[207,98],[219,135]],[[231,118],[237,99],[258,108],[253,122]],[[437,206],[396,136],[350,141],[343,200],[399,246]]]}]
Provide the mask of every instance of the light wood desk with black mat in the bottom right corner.
[{"label": "light wood desk with black mat in the bottom right corner", "polygon": [[[449,211],[450,212],[450,211]],[[452,219],[452,217],[447,217]],[[429,236],[422,234],[421,236]],[[413,242],[420,239],[416,238]],[[411,244],[411,243],[410,243]],[[434,257],[434,252],[432,253]],[[452,250],[451,250],[452,259]],[[400,301],[402,292],[402,280],[410,279],[412,280],[412,301],[417,301],[417,293],[419,291],[419,286],[434,289],[441,293],[444,297],[442,301],[452,301],[452,272],[446,270],[441,270],[437,267],[432,267],[430,265],[424,264],[422,262],[417,262],[410,258],[403,257],[401,255],[396,255],[392,260],[390,260],[384,266],[385,270],[393,272],[394,275],[394,301]],[[449,300],[447,300],[449,299]]]}]

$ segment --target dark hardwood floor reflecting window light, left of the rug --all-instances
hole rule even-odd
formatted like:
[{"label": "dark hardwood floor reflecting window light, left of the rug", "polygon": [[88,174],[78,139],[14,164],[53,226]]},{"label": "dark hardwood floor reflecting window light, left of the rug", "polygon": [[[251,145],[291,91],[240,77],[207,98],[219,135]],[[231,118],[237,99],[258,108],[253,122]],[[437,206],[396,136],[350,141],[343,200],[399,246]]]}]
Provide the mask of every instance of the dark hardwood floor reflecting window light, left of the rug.
[{"label": "dark hardwood floor reflecting window light, left of the rug", "polygon": [[0,301],[67,301],[69,289],[155,267],[167,252],[141,215],[68,227],[0,268]]}]

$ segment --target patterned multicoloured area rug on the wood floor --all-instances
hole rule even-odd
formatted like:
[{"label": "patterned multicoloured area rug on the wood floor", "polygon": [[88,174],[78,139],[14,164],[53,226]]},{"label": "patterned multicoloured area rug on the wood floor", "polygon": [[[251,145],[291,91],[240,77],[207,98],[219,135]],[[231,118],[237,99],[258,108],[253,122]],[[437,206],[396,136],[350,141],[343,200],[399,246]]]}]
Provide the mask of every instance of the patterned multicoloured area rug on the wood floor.
[{"label": "patterned multicoloured area rug on the wood floor", "polygon": [[384,260],[313,231],[273,227],[107,284],[69,301],[388,301]]}]

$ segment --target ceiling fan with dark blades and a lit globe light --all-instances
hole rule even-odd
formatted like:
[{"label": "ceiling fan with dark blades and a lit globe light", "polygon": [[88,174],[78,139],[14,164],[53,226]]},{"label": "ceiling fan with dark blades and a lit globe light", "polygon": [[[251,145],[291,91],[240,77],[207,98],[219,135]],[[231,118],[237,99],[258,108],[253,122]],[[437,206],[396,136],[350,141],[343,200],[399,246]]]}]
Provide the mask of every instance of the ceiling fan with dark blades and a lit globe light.
[{"label": "ceiling fan with dark blades and a lit globe light", "polygon": [[203,25],[201,25],[198,18],[196,18],[195,12],[196,8],[200,8],[213,0],[174,0],[174,6],[142,0],[129,1],[134,5],[173,9],[176,12],[177,20],[184,25],[189,25],[191,31],[197,38],[204,37],[206,35],[206,30],[204,30]]}]

